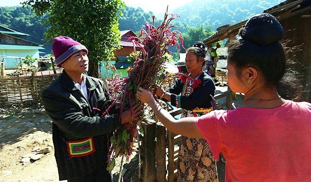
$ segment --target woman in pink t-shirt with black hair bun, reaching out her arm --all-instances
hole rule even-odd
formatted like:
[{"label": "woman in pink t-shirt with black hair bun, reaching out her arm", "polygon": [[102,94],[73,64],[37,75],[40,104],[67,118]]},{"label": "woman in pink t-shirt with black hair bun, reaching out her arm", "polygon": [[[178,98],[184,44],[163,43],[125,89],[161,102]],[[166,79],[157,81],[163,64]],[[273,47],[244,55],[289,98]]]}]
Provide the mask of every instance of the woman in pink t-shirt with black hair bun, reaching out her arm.
[{"label": "woman in pink t-shirt with black hair bun, reaching out her arm", "polygon": [[292,101],[301,87],[284,77],[283,35],[275,17],[258,14],[228,44],[228,85],[245,94],[242,107],[175,120],[149,91],[137,97],[170,131],[205,138],[217,161],[222,152],[226,182],[311,181],[311,104]]}]

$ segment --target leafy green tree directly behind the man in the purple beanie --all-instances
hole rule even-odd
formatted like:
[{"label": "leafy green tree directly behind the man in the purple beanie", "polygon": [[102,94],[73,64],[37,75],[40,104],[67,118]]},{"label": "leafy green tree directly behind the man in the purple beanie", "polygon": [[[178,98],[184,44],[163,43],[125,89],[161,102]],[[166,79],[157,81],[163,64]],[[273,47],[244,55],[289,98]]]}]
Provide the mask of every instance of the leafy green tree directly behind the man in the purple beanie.
[{"label": "leafy green tree directly behind the man in the purple beanie", "polygon": [[119,48],[119,15],[124,6],[121,0],[26,0],[37,15],[49,13],[50,25],[46,39],[69,36],[86,46],[89,51],[88,75],[98,77],[99,62],[113,58]]}]

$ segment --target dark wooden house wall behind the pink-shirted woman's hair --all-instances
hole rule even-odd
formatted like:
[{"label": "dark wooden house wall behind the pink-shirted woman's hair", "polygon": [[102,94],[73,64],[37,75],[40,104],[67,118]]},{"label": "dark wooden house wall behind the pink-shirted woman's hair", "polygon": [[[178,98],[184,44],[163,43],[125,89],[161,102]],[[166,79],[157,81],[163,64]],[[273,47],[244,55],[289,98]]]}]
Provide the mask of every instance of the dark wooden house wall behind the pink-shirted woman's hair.
[{"label": "dark wooden house wall behind the pink-shirted woman's hair", "polygon": [[[298,64],[293,66],[295,71],[300,72],[302,75],[301,82],[305,86],[305,96],[311,102],[311,18],[302,18],[302,15],[311,15],[311,10],[295,15],[290,18],[281,20],[285,36],[284,41],[293,40],[288,43],[287,46],[294,47],[299,46],[302,51],[295,52],[295,61]],[[292,55],[292,57],[294,57]]]}]

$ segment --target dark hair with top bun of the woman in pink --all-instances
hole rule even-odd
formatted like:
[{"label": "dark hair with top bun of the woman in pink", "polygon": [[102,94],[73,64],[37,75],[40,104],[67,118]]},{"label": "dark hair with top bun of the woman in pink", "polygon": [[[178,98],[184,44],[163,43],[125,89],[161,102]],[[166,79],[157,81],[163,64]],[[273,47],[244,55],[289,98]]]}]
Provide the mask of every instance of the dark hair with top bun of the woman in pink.
[{"label": "dark hair with top bun of the woman in pink", "polygon": [[228,62],[235,63],[240,71],[247,66],[258,69],[267,87],[276,86],[285,99],[299,100],[301,91],[295,89],[299,81],[294,75],[284,76],[286,55],[279,42],[283,36],[283,27],[275,17],[266,13],[255,15],[242,27],[239,35],[228,43]]}]

